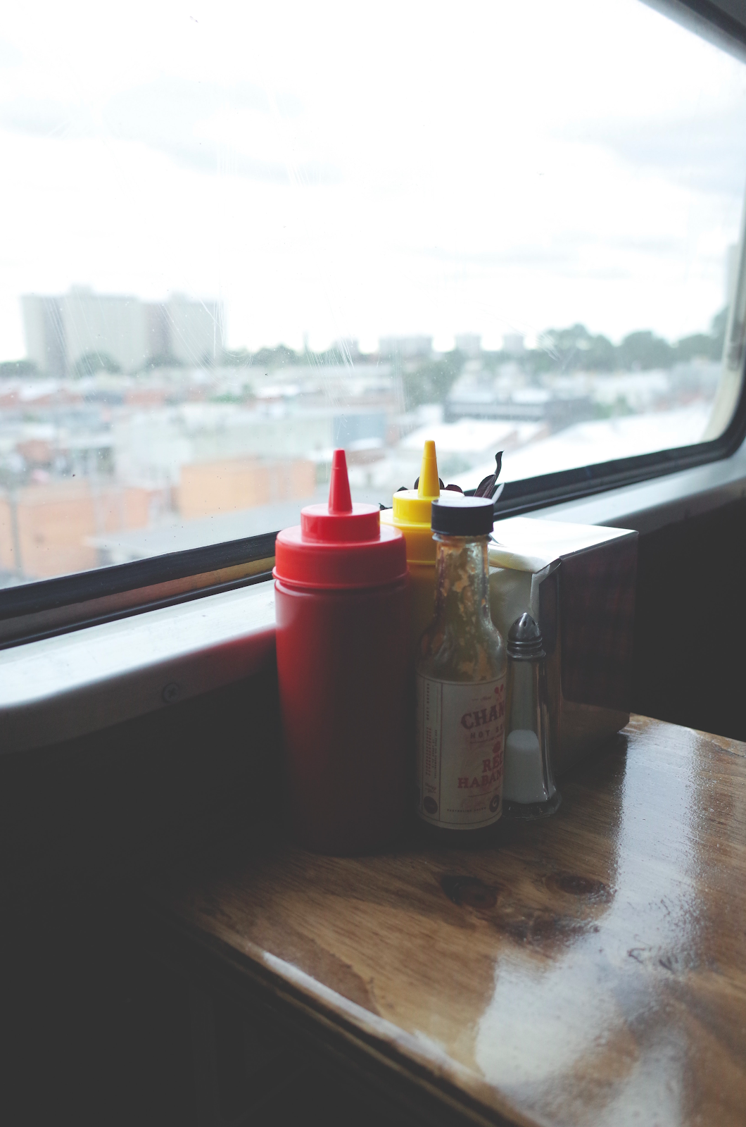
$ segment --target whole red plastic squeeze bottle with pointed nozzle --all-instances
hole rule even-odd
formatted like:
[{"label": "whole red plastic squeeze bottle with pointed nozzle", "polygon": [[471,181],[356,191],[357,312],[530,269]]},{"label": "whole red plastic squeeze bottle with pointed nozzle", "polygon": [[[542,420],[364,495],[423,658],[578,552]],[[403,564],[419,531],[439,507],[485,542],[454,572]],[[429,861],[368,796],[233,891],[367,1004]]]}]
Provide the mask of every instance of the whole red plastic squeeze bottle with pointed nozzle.
[{"label": "whole red plastic squeeze bottle with pointed nozzle", "polygon": [[378,849],[407,814],[409,576],[399,530],[353,504],[344,450],[273,574],[291,829],[321,853]]}]

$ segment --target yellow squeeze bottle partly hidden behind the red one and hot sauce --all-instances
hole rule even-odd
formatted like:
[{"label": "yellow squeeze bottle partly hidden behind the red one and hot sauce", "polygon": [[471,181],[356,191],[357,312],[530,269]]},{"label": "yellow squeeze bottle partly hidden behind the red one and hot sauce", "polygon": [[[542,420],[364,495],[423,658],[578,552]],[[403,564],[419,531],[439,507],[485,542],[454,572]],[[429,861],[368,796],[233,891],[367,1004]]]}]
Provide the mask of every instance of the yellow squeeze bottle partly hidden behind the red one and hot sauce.
[{"label": "yellow squeeze bottle partly hidden behind the red one and hot sauce", "polygon": [[411,612],[412,656],[425,627],[435,613],[435,541],[430,531],[430,502],[441,496],[435,443],[428,440],[423,450],[423,465],[417,489],[401,489],[393,495],[393,508],[381,513],[381,521],[393,524],[407,541]]}]

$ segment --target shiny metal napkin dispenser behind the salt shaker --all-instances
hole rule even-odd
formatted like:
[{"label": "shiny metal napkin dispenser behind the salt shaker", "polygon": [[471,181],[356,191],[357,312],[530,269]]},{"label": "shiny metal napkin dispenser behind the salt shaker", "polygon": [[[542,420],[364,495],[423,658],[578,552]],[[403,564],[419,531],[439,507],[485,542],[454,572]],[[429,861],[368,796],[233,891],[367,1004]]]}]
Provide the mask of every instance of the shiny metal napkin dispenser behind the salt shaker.
[{"label": "shiny metal napkin dispenser behind the salt shaker", "polygon": [[552,767],[568,771],[630,718],[638,533],[508,517],[489,545],[492,621],[527,612],[547,654]]}]

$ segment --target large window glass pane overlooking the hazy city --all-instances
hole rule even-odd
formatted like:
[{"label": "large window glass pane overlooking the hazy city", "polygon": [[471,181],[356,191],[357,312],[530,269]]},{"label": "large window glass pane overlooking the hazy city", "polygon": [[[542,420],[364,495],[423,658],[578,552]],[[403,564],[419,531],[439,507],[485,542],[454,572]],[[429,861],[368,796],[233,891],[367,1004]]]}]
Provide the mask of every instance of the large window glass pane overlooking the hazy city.
[{"label": "large window glass pane overlooking the hazy city", "polygon": [[0,583],[730,419],[746,68],[638,0],[14,5],[0,151]]}]

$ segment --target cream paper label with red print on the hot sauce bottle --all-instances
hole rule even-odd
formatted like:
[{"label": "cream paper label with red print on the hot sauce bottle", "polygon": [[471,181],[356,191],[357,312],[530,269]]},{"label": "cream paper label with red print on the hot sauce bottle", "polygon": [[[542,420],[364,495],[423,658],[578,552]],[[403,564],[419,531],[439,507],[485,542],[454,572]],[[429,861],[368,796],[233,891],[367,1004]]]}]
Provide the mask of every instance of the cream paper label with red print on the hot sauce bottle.
[{"label": "cream paper label with red print on the hot sauce bottle", "polygon": [[505,677],[472,684],[417,674],[417,813],[470,829],[503,813]]}]

